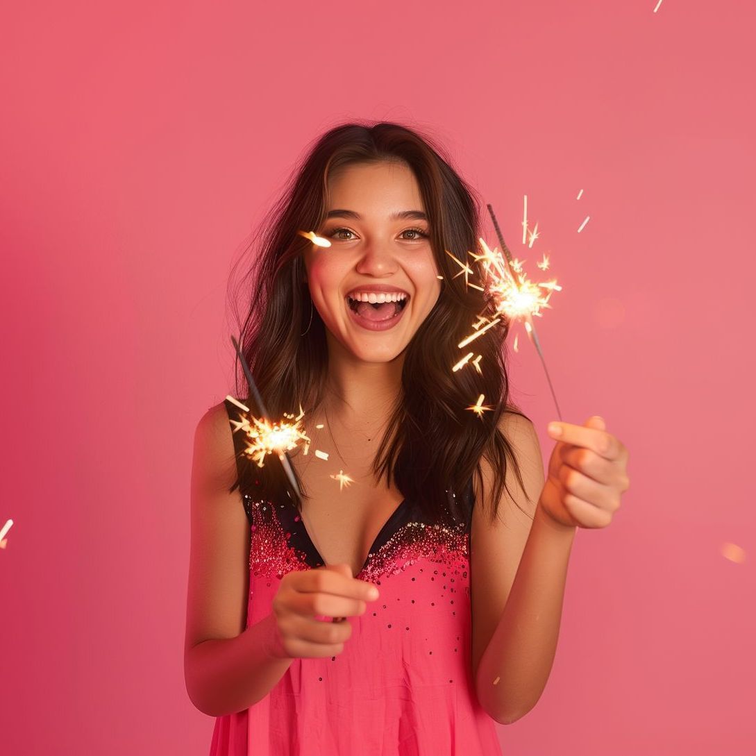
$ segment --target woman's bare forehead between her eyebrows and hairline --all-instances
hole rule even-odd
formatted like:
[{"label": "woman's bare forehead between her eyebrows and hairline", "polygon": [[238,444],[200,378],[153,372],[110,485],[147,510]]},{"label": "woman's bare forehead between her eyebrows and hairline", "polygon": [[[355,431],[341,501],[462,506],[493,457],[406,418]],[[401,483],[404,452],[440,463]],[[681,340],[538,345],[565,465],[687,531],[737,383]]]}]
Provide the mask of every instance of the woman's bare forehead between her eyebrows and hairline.
[{"label": "woman's bare forehead between her eyebrows and hairline", "polygon": [[360,215],[424,210],[420,186],[406,163],[352,163],[328,176],[327,210],[345,208]]}]

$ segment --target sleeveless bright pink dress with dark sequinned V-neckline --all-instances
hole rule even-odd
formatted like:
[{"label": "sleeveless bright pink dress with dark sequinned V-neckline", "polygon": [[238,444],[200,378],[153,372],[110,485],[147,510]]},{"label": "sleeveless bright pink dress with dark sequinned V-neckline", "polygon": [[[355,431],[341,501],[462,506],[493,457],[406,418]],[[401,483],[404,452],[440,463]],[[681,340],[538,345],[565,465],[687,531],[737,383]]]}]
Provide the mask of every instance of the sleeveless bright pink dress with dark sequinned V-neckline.
[{"label": "sleeveless bright pink dress with dark sequinned V-neckline", "polygon": [[[230,417],[237,408],[226,400]],[[243,439],[234,434],[240,451]],[[242,491],[251,528],[246,626],[271,612],[280,578],[323,565],[293,506]],[[472,486],[457,527],[423,522],[404,500],[356,578],[380,598],[350,617],[335,657],[295,659],[265,699],[217,717],[210,756],[500,756],[470,662]]]}]

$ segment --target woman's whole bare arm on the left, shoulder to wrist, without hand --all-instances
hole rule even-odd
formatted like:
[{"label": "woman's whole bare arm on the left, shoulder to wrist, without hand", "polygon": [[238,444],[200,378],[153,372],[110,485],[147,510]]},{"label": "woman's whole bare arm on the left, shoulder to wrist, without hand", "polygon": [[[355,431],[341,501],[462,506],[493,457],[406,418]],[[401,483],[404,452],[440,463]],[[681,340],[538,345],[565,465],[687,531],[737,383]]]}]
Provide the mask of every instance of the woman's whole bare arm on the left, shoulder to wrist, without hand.
[{"label": "woman's whole bare arm on the left, shoulder to wrist, without hand", "polygon": [[271,613],[245,629],[249,522],[237,489],[234,442],[223,404],[197,425],[191,479],[191,555],[184,680],[191,702],[219,717],[264,698],[292,659],[275,645]]}]

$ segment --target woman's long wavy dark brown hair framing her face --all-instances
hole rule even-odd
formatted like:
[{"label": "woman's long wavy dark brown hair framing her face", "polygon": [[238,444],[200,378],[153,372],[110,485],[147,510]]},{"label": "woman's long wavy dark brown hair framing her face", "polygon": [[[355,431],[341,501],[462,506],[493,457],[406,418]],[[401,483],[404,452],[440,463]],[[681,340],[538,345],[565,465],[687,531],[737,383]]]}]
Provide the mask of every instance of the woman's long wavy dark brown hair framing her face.
[{"label": "woman's long wavy dark brown hair framing her face", "polygon": [[[479,314],[490,315],[491,308],[481,291],[466,287],[465,277],[457,275],[460,267],[447,254],[448,250],[466,262],[468,250],[476,250],[479,198],[432,138],[392,122],[350,122],[314,141],[248,247],[256,257],[237,286],[245,291],[243,321],[234,310],[240,348],[272,417],[296,413],[301,405],[306,420],[321,404],[328,362],[325,326],[312,308],[305,283],[302,253],[311,242],[297,232],[321,228],[328,209],[329,172],[386,160],[406,164],[417,179],[443,280],[438,301],[407,345],[402,390],[373,471],[377,482],[384,477],[387,485],[393,482],[405,498],[417,501],[423,513],[438,521],[445,519],[448,492],[461,495],[473,473],[478,490],[483,490],[480,460],[485,456],[494,470],[493,522],[502,491],[510,493],[509,463],[525,491],[513,449],[498,424],[504,413],[526,416],[509,401],[506,320],[470,346],[482,355],[481,373],[471,365],[451,370],[464,354],[459,342],[471,333]],[[232,302],[236,304],[237,296]],[[253,402],[238,360],[236,367],[237,396]],[[491,411],[478,417],[466,407],[481,394]],[[254,402],[247,406],[257,411]],[[281,466],[272,457],[268,460],[262,468],[248,466],[254,468],[249,479],[259,486],[260,497],[274,504],[293,500],[301,510]],[[243,485],[242,479],[236,485]]]}]

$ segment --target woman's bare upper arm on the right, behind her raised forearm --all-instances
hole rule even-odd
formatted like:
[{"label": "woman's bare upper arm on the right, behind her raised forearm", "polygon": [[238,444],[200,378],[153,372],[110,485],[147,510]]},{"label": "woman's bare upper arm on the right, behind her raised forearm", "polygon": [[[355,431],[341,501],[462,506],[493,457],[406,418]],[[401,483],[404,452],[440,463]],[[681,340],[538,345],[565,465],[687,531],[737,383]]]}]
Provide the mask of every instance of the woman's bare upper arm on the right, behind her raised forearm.
[{"label": "woman's bare upper arm on the right, behind her raised forearm", "polygon": [[476,491],[470,531],[474,675],[507,605],[545,482],[541,444],[531,420],[508,412],[501,417],[499,429],[512,446],[525,491],[516,479],[511,462],[508,463],[506,481],[509,493],[505,490],[501,494],[497,518],[492,524],[489,513],[494,471],[488,460],[481,460],[483,490]]}]

